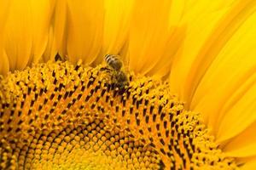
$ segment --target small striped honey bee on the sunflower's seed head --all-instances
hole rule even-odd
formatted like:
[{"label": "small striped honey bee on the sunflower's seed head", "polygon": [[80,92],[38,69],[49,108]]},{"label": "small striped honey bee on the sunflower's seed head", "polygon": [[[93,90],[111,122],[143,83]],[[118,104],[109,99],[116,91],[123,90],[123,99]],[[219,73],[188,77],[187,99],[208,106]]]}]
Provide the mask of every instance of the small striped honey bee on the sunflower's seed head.
[{"label": "small striped honey bee on the sunflower's seed head", "polygon": [[123,62],[119,58],[119,55],[107,54],[104,59],[108,65],[108,68],[105,68],[105,70],[113,73],[112,79],[114,85],[119,88],[120,91],[124,91],[125,86],[129,86],[129,81],[125,72],[122,71]]}]

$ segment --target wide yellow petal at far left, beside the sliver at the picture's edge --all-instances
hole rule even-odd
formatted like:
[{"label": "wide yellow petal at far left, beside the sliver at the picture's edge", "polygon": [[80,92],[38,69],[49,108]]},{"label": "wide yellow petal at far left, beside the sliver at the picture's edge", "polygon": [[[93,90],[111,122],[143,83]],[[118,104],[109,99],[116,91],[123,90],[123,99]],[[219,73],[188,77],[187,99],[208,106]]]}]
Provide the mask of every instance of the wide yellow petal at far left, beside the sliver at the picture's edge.
[{"label": "wide yellow petal at far left, beside the sliver at the picture's edge", "polygon": [[32,8],[30,1],[13,0],[6,23],[6,54],[10,70],[26,67],[32,52]]}]

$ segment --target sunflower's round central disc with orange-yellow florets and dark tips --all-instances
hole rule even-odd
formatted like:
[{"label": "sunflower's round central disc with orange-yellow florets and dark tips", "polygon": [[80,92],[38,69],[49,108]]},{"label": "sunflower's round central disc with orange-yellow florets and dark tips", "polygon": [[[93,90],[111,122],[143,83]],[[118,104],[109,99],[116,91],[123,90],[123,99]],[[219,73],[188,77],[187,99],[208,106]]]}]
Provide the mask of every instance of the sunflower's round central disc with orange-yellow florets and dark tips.
[{"label": "sunflower's round central disc with orange-yellow florets and dark tips", "polygon": [[69,62],[0,78],[0,169],[235,169],[169,84]]}]

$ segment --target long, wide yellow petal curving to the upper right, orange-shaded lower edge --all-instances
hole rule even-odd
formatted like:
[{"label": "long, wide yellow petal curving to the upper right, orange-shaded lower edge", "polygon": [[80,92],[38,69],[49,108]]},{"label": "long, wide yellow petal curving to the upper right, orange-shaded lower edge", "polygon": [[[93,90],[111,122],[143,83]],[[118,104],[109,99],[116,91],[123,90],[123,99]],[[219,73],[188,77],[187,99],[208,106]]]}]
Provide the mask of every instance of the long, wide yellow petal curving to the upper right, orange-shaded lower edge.
[{"label": "long, wide yellow petal curving to the upper right, orange-shaded lower edge", "polygon": [[[225,2],[227,3],[189,1],[185,5],[188,12],[184,14],[182,22],[187,24],[188,31],[183,46],[179,48],[173,60],[170,82],[172,93],[178,94],[187,102],[187,107],[207,67],[211,65],[232,32],[240,26],[242,20],[238,20],[239,17],[243,19],[246,15],[240,12],[249,6],[246,1]],[[234,18],[236,20],[233,20]]]}]

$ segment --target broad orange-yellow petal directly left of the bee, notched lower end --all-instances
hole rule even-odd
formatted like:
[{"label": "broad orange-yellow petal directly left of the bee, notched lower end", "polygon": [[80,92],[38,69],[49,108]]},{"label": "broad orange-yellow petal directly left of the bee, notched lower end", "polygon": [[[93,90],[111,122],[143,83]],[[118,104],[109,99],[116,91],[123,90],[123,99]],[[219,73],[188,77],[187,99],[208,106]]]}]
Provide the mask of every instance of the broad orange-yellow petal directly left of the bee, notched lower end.
[{"label": "broad orange-yellow petal directly left of the bee, notched lower end", "polygon": [[103,1],[67,0],[67,56],[90,64],[102,48]]}]

